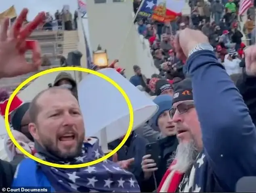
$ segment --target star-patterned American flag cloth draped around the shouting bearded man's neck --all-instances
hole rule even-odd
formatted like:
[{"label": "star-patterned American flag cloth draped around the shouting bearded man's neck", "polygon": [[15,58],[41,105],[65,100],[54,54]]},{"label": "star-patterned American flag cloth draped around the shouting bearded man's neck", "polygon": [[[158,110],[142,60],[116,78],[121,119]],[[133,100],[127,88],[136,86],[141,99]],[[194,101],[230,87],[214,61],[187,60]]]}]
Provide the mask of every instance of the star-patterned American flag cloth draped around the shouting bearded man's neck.
[{"label": "star-patterned American flag cloth draped around the shouting bearded man's neck", "polygon": [[[101,158],[104,154],[99,140],[83,144],[82,153],[72,162],[59,164],[82,164]],[[39,158],[51,162],[40,154]],[[56,192],[140,192],[133,174],[109,160],[85,168],[64,169],[39,164]]]}]

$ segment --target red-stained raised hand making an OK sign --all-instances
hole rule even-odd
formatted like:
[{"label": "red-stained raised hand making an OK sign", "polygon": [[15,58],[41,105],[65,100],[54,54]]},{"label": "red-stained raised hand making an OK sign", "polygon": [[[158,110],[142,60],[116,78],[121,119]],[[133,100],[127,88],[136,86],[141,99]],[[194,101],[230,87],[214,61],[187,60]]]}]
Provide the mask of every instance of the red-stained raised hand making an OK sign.
[{"label": "red-stained raised hand making an OK sign", "polygon": [[[0,78],[15,77],[38,70],[41,61],[41,49],[37,41],[27,37],[45,21],[45,13],[40,12],[33,21],[22,27],[28,10],[24,8],[8,30],[9,19],[3,19],[0,25]],[[28,63],[25,52],[32,51],[32,62]]]}]

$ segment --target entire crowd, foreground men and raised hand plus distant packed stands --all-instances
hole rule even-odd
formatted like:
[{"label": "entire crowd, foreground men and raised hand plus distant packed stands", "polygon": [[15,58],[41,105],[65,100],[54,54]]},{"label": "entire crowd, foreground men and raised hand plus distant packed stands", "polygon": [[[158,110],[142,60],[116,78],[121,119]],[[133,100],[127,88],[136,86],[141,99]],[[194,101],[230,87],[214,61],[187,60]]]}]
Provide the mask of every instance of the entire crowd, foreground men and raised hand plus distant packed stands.
[{"label": "entire crowd, foreground men and raised hand plus distant packed stands", "polygon": [[[134,12],[139,5],[134,0]],[[235,192],[241,178],[256,176],[256,46],[241,41],[237,2],[190,1],[189,5],[191,15],[176,21],[136,21],[138,33],[149,40],[159,74],[145,77],[136,64],[130,83],[158,109],[132,131],[116,155],[85,168],[55,168],[26,158],[7,136],[8,162],[0,160],[0,187],[50,187],[51,192]],[[39,45],[24,48],[21,43],[48,16],[39,13],[21,29],[26,15],[24,9],[12,33],[7,33],[7,20],[2,24],[0,78],[42,65]],[[248,14],[246,35],[254,28],[254,17]],[[26,62],[24,49],[33,51],[33,63]],[[117,62],[109,67],[125,77]],[[92,65],[92,69],[99,68]],[[8,92],[0,89],[2,116],[8,99]],[[12,133],[30,154],[58,164],[81,164],[104,155],[97,138],[84,137],[77,84],[68,73],[60,73],[31,102],[15,96],[11,105]],[[109,149],[122,139],[109,143]]]}]

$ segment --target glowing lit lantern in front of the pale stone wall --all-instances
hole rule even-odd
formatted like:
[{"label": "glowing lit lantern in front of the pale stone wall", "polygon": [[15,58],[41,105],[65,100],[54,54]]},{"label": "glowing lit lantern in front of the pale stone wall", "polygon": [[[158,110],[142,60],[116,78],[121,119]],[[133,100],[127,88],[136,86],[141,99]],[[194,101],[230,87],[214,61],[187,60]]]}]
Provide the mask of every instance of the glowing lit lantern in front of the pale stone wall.
[{"label": "glowing lit lantern in front of the pale stone wall", "polygon": [[99,68],[106,68],[108,66],[107,50],[102,50],[99,45],[97,50],[92,52],[93,63]]}]

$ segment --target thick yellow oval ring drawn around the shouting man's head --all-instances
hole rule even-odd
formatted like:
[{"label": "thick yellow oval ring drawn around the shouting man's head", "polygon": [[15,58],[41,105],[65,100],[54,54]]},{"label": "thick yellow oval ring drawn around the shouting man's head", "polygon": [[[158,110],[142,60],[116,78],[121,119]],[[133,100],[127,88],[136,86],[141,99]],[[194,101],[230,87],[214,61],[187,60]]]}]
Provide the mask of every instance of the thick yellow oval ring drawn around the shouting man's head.
[{"label": "thick yellow oval ring drawn around the shouting man's head", "polygon": [[[126,133],[124,139],[121,141],[121,143],[113,151],[109,152],[107,155],[105,155],[105,156],[103,156],[103,157],[101,157],[97,160],[93,160],[91,162],[87,162],[87,163],[84,163],[84,164],[73,164],[73,165],[55,164],[55,163],[51,163],[51,162],[41,160],[40,158],[37,158],[36,156],[31,155],[28,151],[23,149],[23,147],[21,147],[21,145],[19,145],[19,143],[13,137],[13,134],[10,130],[10,125],[9,125],[9,122],[8,122],[8,114],[9,114],[9,110],[10,110],[10,104],[12,103],[13,98],[15,97],[15,95],[17,95],[17,93],[19,92],[20,89],[22,89],[22,87],[24,87],[27,83],[31,82],[32,80],[34,80],[34,79],[36,79],[36,78],[38,78],[42,75],[46,75],[48,73],[53,73],[53,72],[58,72],[58,71],[80,71],[80,72],[89,73],[89,74],[93,74],[93,75],[96,75],[98,77],[101,77],[102,79],[111,83],[116,89],[118,89],[118,91],[120,91],[120,93],[123,95],[124,99],[126,100],[126,103],[128,105],[128,109],[129,109],[129,113],[130,113],[130,122],[129,122],[129,127],[128,127],[128,130],[127,130],[127,133]],[[9,135],[10,139],[13,141],[14,145],[23,154],[25,154],[30,159],[32,159],[32,160],[34,160],[34,161],[36,161],[40,164],[44,164],[46,166],[51,166],[51,167],[55,167],[55,168],[83,168],[83,167],[87,167],[87,166],[92,166],[94,164],[98,164],[99,162],[103,162],[107,158],[110,158],[124,145],[124,143],[126,142],[128,137],[130,136],[130,133],[132,132],[133,121],[134,121],[132,103],[130,102],[130,99],[128,98],[128,95],[125,93],[125,91],[115,81],[113,81],[111,78],[109,78],[106,75],[103,75],[102,73],[99,73],[97,71],[93,71],[93,70],[90,70],[90,69],[87,69],[87,68],[82,68],[82,67],[71,67],[71,66],[70,67],[51,68],[51,69],[42,71],[40,73],[37,73],[37,74],[29,77],[25,81],[23,81],[15,89],[15,91],[13,91],[13,93],[10,95],[10,98],[9,98],[8,103],[6,105],[6,110],[5,110],[4,116],[5,116],[4,121],[5,121],[5,126],[6,126],[7,133]]]}]

